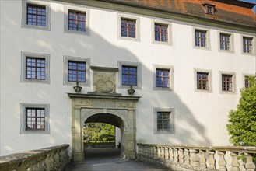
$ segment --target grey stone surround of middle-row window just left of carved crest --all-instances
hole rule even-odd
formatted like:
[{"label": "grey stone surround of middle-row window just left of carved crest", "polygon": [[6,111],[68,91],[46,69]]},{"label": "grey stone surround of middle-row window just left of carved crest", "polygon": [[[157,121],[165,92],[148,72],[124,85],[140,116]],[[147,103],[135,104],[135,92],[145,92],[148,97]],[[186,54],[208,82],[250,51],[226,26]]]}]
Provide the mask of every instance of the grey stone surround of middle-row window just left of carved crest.
[{"label": "grey stone surround of middle-row window just left of carved crest", "polygon": [[68,61],[80,61],[86,62],[86,82],[79,82],[79,86],[90,86],[90,59],[89,58],[81,58],[81,57],[71,57],[71,56],[63,56],[64,62],[64,76],[63,76],[63,85],[67,86],[76,86],[76,82],[68,82]]}]

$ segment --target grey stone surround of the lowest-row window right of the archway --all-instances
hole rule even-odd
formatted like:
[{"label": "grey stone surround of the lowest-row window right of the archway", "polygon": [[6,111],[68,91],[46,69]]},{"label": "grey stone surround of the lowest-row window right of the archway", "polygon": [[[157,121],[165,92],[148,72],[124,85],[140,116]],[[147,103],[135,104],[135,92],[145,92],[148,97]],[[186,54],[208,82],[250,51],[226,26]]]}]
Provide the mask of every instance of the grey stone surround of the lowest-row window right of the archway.
[{"label": "grey stone surround of the lowest-row window right of the archway", "polygon": [[[170,131],[157,131],[157,113],[170,112]],[[175,109],[174,108],[153,108],[154,114],[154,134],[175,134]]]}]

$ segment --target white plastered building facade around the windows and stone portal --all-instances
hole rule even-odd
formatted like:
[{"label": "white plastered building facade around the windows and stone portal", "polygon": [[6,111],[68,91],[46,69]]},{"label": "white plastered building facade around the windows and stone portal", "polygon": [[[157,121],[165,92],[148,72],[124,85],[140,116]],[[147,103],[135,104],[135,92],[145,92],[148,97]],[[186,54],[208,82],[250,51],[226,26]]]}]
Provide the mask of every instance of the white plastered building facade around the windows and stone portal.
[{"label": "white plastered building facade around the windows and stone portal", "polygon": [[[136,142],[162,145],[230,145],[226,131],[227,116],[236,109],[239,89],[244,87],[244,73],[255,73],[255,34],[219,27],[184,23],[135,13],[100,9],[91,6],[45,2],[49,6],[49,29],[23,27],[23,3],[1,1],[1,155],[44,148],[72,145],[73,86],[63,82],[64,58],[85,58],[91,66],[118,68],[118,61],[141,66],[141,96],[136,104]],[[88,34],[65,32],[65,10],[89,12]],[[12,9],[12,10],[10,10]],[[120,17],[139,19],[137,40],[120,39]],[[171,44],[153,44],[153,23],[169,23]],[[207,30],[209,47],[195,48],[195,29]],[[219,51],[219,33],[232,33],[233,51]],[[242,52],[241,37],[252,37],[254,54]],[[21,82],[22,52],[49,54],[49,83]],[[172,91],[153,89],[153,66],[172,68]],[[195,70],[211,71],[210,92],[195,91]],[[220,93],[220,72],[236,74],[234,93]],[[92,72],[92,71],[90,71]],[[116,79],[119,80],[120,70]],[[82,92],[93,92],[90,85]],[[128,96],[127,88],[116,88]],[[21,104],[49,105],[49,134],[21,134]],[[154,134],[154,108],[175,112],[175,133]]]}]

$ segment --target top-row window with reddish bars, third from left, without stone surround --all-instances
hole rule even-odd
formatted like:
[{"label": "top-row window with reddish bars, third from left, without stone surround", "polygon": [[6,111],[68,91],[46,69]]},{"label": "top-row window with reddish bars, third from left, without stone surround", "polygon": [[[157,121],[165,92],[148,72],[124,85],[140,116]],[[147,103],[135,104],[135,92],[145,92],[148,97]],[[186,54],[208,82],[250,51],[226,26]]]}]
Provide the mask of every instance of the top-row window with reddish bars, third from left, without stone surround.
[{"label": "top-row window with reddish bars, third from left, without stone surround", "polygon": [[136,20],[121,19],[121,37],[136,37]]}]

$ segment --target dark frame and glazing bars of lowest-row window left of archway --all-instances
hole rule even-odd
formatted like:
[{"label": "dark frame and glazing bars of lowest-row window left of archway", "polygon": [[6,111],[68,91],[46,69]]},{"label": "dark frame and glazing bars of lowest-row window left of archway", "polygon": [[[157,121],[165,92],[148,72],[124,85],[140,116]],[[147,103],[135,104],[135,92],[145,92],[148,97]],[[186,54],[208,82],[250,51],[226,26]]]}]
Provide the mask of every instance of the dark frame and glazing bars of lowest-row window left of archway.
[{"label": "dark frame and glazing bars of lowest-row window left of archway", "polygon": [[[33,116],[28,116],[28,110],[35,110],[35,116],[33,117]],[[44,110],[44,117],[39,117],[38,115],[38,110]],[[45,130],[45,109],[44,108],[30,108],[30,107],[26,107],[26,130],[39,130],[39,131],[44,131]],[[32,113],[31,113],[31,115],[32,115]],[[29,127],[28,125],[28,119],[29,118],[34,118],[35,119],[35,121],[34,121],[34,126],[33,127]],[[40,123],[37,119],[44,119],[44,121],[43,121],[43,123],[44,124],[40,124],[40,125],[43,125],[43,127],[42,128],[37,128],[37,126],[38,126],[38,124]]]}]

